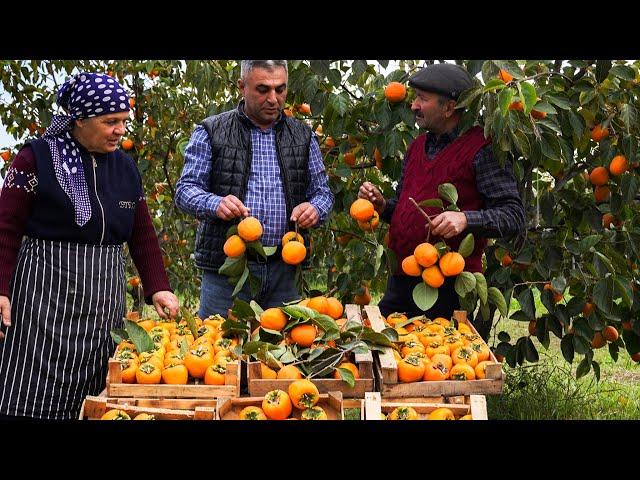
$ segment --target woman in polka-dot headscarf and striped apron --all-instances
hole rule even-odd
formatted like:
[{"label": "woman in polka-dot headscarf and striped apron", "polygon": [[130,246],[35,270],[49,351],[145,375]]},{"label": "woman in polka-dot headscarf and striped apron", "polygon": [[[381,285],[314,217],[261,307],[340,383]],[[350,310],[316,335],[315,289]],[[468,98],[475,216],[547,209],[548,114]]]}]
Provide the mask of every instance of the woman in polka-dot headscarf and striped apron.
[{"label": "woman in polka-dot headscarf and striped apron", "polygon": [[[123,243],[160,315],[178,311],[144,200],[118,149],[129,96],[113,78],[80,73],[27,144],[0,195],[0,416],[77,418],[103,388],[125,310]],[[24,239],[23,239],[24,235]]]}]

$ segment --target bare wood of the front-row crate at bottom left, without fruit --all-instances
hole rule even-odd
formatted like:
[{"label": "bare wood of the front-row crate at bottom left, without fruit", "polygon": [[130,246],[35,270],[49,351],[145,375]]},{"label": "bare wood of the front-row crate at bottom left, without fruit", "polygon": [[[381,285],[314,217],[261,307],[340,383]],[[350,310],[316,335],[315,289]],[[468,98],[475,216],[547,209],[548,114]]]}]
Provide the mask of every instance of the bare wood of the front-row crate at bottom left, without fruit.
[{"label": "bare wood of the front-row crate at bottom left, without fruit", "polygon": [[[102,415],[111,409],[124,410],[131,418],[140,413],[148,413],[155,417],[156,420],[214,420],[215,419],[215,400],[190,400],[189,404],[184,400],[173,399],[125,399],[93,397],[87,396],[82,403],[80,410],[80,420],[99,420]],[[147,400],[155,400],[158,406]],[[178,403],[179,402],[179,403]],[[202,402],[214,402],[213,404],[205,404]],[[164,406],[159,406],[164,405]],[[173,408],[171,408],[173,407]]]}]

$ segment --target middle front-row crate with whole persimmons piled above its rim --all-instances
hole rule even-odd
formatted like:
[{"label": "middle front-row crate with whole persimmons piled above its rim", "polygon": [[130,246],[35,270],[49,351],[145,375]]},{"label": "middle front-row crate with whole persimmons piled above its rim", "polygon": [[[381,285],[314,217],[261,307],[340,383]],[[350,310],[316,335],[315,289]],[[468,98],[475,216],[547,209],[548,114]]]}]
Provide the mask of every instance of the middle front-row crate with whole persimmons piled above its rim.
[{"label": "middle front-row crate with whole persimmons piled above its rim", "polygon": [[341,392],[320,393],[315,382],[294,380],[262,396],[219,398],[218,420],[343,420]]}]

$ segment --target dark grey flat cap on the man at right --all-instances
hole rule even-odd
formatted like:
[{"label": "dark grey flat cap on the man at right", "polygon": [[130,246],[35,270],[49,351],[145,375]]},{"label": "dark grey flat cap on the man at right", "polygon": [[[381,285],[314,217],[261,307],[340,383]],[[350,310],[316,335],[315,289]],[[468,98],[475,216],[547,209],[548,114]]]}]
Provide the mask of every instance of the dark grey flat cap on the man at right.
[{"label": "dark grey flat cap on the man at right", "polygon": [[409,86],[435,92],[457,100],[463,90],[471,88],[471,75],[460,65],[435,63],[409,77]]}]

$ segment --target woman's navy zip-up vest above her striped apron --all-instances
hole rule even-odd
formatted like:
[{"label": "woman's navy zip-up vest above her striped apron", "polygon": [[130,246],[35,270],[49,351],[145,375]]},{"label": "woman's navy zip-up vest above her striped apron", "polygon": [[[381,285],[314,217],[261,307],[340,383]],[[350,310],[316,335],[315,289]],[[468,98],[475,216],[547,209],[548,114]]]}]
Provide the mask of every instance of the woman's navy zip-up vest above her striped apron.
[{"label": "woman's navy zip-up vest above her striped apron", "polygon": [[86,150],[80,152],[91,203],[91,218],[80,227],[75,222],[71,200],[56,179],[47,142],[38,139],[29,145],[36,159],[38,194],[27,221],[26,235],[92,245],[100,244],[101,240],[103,245],[119,245],[131,237],[136,206],[142,195],[140,172],[131,157],[121,150],[95,154],[95,182],[91,156]]}]

